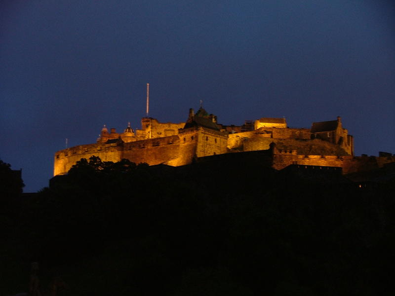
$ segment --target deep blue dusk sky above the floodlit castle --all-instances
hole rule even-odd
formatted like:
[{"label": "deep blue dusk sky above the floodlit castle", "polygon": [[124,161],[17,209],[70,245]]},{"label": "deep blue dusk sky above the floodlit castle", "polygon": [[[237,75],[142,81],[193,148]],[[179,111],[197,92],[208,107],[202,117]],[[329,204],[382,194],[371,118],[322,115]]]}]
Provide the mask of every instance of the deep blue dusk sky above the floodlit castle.
[{"label": "deep blue dusk sky above the floodlit castle", "polygon": [[103,124],[223,124],[342,117],[356,155],[395,153],[395,4],[381,0],[2,1],[0,158],[25,192],[48,185],[55,151]]}]

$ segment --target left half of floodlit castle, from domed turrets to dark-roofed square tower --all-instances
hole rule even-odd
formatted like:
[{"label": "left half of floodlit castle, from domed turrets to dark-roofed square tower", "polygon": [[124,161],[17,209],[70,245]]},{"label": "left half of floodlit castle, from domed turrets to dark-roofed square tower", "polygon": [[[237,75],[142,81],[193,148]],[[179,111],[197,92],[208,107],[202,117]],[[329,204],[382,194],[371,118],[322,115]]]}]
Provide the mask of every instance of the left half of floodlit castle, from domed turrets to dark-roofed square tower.
[{"label": "left half of floodlit castle, from domed turrets to dark-roofed square tower", "polygon": [[202,108],[196,115],[191,111],[186,123],[160,123],[145,117],[141,120],[142,129],[135,134],[130,125],[121,134],[115,128],[109,133],[104,126],[96,144],[57,151],[54,176],[66,174],[81,158],[93,155],[103,161],[126,158],[135,163],[181,166],[196,157],[226,153],[228,132],[216,124],[216,117]]}]

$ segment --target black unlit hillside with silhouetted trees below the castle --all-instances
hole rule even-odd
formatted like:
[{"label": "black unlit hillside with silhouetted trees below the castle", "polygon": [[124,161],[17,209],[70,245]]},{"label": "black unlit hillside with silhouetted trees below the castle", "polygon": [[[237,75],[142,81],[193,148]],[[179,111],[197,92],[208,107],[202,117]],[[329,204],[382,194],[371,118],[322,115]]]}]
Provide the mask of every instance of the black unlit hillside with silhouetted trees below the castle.
[{"label": "black unlit hillside with silhouetted trees below the castle", "polygon": [[32,261],[42,290],[67,283],[60,296],[394,291],[394,178],[91,158],[21,197],[8,173],[2,163],[0,295],[28,290]]}]

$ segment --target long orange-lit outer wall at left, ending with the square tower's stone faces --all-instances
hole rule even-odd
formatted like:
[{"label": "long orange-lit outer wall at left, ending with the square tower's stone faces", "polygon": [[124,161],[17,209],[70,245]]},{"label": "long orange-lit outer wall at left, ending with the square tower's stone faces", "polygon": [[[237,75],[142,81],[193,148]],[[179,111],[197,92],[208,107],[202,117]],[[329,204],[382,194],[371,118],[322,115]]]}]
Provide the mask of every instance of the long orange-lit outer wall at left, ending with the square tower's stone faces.
[{"label": "long orange-lit outer wall at left, ending with the square tower's stone faces", "polygon": [[192,163],[195,157],[226,153],[226,145],[225,136],[206,130],[129,143],[81,145],[56,152],[54,176],[66,174],[81,158],[91,156],[99,156],[103,161],[117,162],[126,158],[135,163],[181,166]]}]

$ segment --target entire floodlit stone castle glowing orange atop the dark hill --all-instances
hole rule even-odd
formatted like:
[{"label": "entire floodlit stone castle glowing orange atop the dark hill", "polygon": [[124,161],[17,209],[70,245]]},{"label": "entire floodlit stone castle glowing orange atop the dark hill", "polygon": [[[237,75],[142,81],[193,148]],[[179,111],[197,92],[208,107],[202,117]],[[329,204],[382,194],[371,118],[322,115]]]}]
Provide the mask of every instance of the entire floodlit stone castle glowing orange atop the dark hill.
[{"label": "entire floodlit stone castle glowing orange atop the dark hill", "polygon": [[[55,153],[54,176],[67,174],[81,158],[99,156],[103,161],[123,158],[149,165],[182,166],[199,159],[226,153],[266,151],[268,163],[275,169],[290,164],[341,167],[352,173],[382,167],[394,162],[393,155],[354,156],[354,139],[343,128],[341,118],[314,122],[309,128],[289,128],[285,118],[260,118],[243,125],[222,125],[217,116],[202,107],[190,109],[188,120],[160,123],[143,117],[141,130],[130,123],[123,133],[102,128],[97,143],[63,149]],[[211,159],[210,158],[210,159]]]}]

